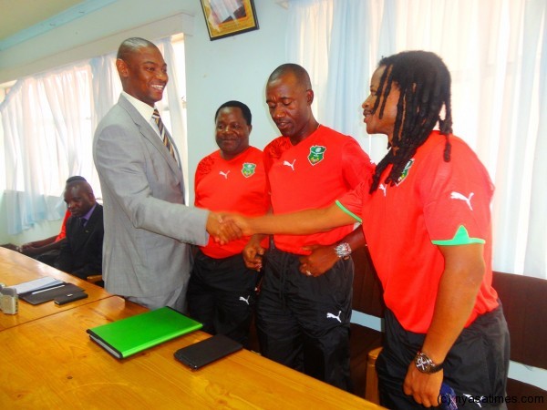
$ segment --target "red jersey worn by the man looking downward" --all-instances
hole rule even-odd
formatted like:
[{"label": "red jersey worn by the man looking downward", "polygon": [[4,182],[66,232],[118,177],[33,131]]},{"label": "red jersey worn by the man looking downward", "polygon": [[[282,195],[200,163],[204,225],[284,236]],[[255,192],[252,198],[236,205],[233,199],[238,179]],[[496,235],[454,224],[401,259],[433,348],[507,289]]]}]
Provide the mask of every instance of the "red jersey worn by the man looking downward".
[{"label": "red jersey worn by the man looking downward", "polygon": [[[264,166],[275,214],[331,205],[374,172],[354,138],[324,126],[295,146],[287,137],[275,138],[264,149]],[[335,243],[353,229],[348,225],[312,235],[275,235],[275,246],[305,254],[309,251],[304,246]]]}]

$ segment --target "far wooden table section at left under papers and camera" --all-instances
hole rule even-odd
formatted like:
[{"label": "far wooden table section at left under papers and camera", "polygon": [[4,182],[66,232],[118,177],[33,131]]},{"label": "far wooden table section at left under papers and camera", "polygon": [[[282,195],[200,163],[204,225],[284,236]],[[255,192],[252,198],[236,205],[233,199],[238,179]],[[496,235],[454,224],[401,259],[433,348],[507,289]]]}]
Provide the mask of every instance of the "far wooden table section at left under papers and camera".
[{"label": "far wooden table section at left under papers and camera", "polygon": [[0,331],[111,296],[110,293],[93,283],[79,279],[77,276],[60,272],[22,253],[0,247],[0,282],[11,286],[21,282],[32,281],[43,276],[51,276],[64,282],[74,283],[84,289],[89,296],[86,299],[61,306],[58,306],[54,302],[32,305],[19,300],[19,313],[0,313]]}]

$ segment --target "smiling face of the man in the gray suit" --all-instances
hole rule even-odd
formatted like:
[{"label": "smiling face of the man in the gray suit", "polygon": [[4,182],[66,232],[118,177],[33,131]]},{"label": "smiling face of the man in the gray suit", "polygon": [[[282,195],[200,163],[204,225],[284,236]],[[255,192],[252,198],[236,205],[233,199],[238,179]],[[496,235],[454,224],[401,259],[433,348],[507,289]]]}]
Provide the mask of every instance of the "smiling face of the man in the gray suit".
[{"label": "smiling face of the man in the gray suit", "polygon": [[154,107],[167,85],[167,64],[156,46],[141,46],[124,59],[116,60],[123,90]]}]

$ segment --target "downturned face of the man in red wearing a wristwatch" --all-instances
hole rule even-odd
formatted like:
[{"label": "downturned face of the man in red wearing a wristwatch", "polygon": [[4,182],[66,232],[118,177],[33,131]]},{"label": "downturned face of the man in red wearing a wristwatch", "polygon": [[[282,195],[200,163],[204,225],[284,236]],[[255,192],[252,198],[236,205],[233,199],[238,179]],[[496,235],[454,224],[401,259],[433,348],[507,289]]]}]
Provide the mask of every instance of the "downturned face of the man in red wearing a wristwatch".
[{"label": "downturned face of the man in red wearing a wristwatch", "polygon": [[270,80],[266,86],[266,104],[270,116],[284,137],[300,141],[317,128],[312,115],[314,92],[299,83],[292,73]]}]

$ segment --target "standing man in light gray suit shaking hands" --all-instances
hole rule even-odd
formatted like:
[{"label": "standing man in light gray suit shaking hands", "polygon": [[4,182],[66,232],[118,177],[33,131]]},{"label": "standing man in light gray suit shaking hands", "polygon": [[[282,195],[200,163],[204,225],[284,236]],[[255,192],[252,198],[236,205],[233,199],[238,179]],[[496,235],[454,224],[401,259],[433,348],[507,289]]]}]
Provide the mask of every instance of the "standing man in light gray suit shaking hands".
[{"label": "standing man in light gray suit shaking hands", "polygon": [[207,244],[208,233],[227,241],[231,233],[218,214],[184,205],[181,158],[152,118],[168,82],[158,47],[129,38],[116,67],[123,92],[93,140],[104,200],[105,287],[150,309],[185,311],[189,243]]}]

